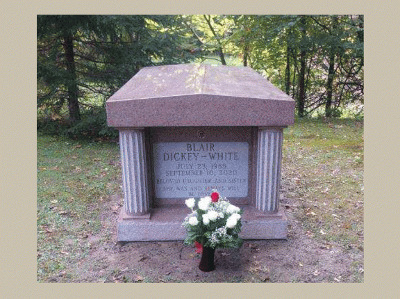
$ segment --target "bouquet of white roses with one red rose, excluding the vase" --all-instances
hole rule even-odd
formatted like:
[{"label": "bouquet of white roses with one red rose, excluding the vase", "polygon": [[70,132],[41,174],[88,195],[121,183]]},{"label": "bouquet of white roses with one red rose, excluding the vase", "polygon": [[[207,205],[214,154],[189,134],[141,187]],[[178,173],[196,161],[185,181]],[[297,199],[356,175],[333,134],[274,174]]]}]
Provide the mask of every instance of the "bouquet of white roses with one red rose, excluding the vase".
[{"label": "bouquet of white roses with one red rose, excluding the vase", "polygon": [[185,204],[192,210],[182,224],[187,229],[186,245],[194,244],[198,253],[202,248],[240,248],[243,245],[239,236],[243,212],[226,197],[220,197],[218,191],[213,190],[210,196],[199,200],[188,198]]}]

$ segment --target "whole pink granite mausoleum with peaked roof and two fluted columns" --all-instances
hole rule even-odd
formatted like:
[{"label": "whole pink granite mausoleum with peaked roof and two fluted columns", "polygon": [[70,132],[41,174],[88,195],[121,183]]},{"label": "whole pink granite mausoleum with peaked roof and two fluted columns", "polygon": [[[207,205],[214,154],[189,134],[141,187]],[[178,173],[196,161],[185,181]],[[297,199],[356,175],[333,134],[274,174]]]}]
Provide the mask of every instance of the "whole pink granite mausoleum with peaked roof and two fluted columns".
[{"label": "whole pink granite mausoleum with peaked roof and two fluted columns", "polygon": [[249,67],[144,67],[106,102],[119,130],[119,241],[185,239],[185,199],[217,188],[244,210],[243,239],[287,239],[279,207],[294,100]]}]

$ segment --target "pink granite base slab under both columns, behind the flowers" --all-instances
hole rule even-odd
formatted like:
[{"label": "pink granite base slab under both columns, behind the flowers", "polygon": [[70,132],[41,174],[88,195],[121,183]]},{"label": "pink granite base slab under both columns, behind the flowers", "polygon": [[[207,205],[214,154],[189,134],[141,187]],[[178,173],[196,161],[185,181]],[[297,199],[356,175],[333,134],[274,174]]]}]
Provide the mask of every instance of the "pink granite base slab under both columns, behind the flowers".
[{"label": "pink granite base slab under both columns, behind the flowers", "polygon": [[[242,239],[288,239],[288,218],[281,209],[267,214],[255,207],[242,208]],[[122,209],[117,220],[118,241],[183,241],[186,231],[182,223],[189,212],[187,207],[162,207],[143,216],[127,216]]]}]

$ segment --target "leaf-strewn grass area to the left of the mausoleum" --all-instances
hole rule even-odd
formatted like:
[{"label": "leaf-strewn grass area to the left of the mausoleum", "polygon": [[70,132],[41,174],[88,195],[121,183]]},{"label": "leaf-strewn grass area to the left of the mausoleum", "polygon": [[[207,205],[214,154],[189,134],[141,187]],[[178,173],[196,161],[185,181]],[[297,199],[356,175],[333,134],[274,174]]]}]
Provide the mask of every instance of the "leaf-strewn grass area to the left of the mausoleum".
[{"label": "leaf-strewn grass area to the left of the mausoleum", "polygon": [[88,254],[82,240],[99,232],[101,209],[121,191],[118,162],[113,143],[38,136],[38,281]]}]

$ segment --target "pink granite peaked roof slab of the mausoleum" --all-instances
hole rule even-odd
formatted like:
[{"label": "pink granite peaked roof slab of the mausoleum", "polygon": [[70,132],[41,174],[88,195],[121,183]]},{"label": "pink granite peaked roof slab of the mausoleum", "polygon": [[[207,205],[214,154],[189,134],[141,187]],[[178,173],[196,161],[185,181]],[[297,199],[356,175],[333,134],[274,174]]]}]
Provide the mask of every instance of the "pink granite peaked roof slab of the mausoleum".
[{"label": "pink granite peaked roof slab of the mausoleum", "polygon": [[294,100],[249,67],[144,67],[106,102],[112,127],[285,126]]}]

